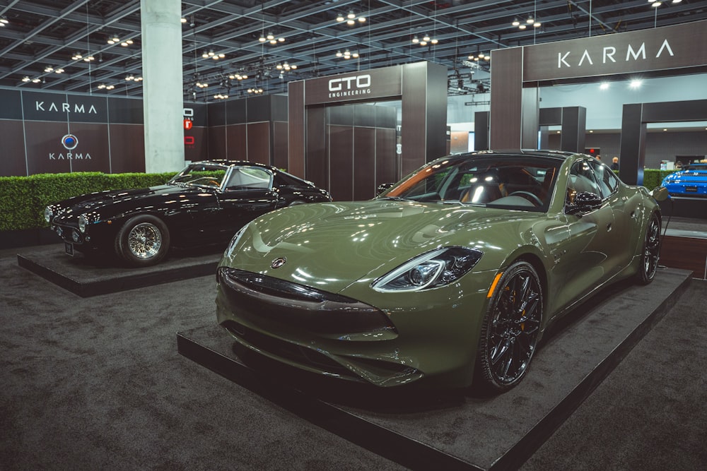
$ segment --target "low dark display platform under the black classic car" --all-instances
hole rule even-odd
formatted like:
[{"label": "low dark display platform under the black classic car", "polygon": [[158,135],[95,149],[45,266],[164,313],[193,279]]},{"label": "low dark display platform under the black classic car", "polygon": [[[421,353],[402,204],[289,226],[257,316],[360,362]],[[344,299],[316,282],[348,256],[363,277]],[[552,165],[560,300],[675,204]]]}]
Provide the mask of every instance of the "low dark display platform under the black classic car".
[{"label": "low dark display platform under the black classic car", "polygon": [[159,285],[216,273],[222,251],[178,251],[156,266],[125,268],[115,260],[70,257],[64,246],[24,249],[17,254],[19,266],[81,297]]}]

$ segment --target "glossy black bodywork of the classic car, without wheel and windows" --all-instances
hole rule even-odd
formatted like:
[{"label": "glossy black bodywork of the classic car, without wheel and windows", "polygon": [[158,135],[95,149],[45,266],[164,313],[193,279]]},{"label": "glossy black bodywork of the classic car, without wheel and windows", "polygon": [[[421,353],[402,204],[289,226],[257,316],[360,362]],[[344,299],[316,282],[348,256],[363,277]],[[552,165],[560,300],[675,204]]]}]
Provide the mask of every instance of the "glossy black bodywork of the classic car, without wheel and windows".
[{"label": "glossy black bodywork of the classic car, without wheel and windows", "polygon": [[[101,191],[74,196],[49,205],[49,223],[77,251],[113,251],[120,227],[135,215],[148,214],[165,222],[170,246],[193,247],[226,244],[247,222],[277,208],[298,203],[331,201],[329,193],[269,165],[212,160],[194,162],[182,170],[209,169],[228,172],[235,167],[260,169],[270,176],[267,188],[207,186],[175,183],[144,189]],[[177,175],[180,175],[177,174]],[[79,217],[86,230],[79,230]]]}]

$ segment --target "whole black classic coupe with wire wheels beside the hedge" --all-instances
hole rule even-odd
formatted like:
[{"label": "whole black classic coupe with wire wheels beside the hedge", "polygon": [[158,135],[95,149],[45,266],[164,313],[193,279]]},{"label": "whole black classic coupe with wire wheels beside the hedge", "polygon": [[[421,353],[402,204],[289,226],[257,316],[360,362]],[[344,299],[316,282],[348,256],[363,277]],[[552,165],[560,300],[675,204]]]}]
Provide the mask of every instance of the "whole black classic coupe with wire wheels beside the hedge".
[{"label": "whole black classic coupe with wire wheels beside the hedge", "polygon": [[194,162],[165,185],[74,196],[45,209],[66,253],[115,252],[130,266],[158,263],[170,247],[226,244],[255,217],[331,201],[325,190],[269,165]]}]

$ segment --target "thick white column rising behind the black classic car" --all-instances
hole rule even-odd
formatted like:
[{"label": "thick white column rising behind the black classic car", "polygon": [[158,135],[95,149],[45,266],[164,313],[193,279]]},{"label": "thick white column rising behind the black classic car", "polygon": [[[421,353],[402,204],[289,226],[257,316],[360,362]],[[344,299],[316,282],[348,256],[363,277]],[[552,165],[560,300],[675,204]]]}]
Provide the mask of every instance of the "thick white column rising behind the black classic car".
[{"label": "thick white column rising behind the black classic car", "polygon": [[141,0],[145,171],[184,167],[182,4]]}]

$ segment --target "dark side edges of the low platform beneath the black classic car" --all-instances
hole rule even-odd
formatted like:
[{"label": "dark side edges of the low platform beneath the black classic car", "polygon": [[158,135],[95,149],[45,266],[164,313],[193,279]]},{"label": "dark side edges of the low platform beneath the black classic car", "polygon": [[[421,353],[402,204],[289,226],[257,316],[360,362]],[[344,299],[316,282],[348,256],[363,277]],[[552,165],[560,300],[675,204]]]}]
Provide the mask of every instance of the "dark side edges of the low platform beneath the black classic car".
[{"label": "dark side edges of the low platform beneath the black classic car", "polygon": [[[71,278],[70,275],[53,270],[40,263],[40,261],[35,261],[24,254],[17,254],[17,263],[18,266],[40,275],[45,280],[54,283],[54,285],[64,288],[64,290],[78,294],[81,297],[93,297],[100,294],[134,290],[139,287],[211,275],[216,273],[218,258],[218,256],[214,256],[210,261],[195,260],[191,264],[174,268],[170,268],[165,264],[164,266],[150,267],[148,269],[125,269],[122,273],[116,273],[110,278],[88,281]],[[68,257],[67,260],[69,260]]]}]

